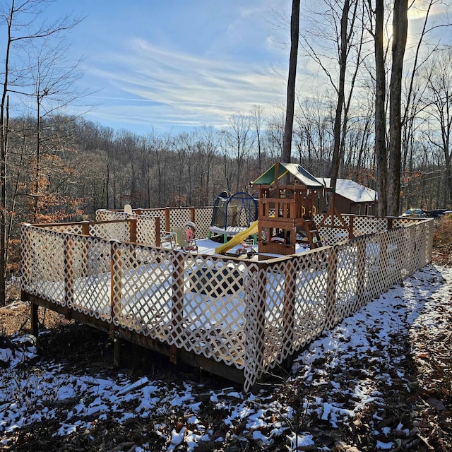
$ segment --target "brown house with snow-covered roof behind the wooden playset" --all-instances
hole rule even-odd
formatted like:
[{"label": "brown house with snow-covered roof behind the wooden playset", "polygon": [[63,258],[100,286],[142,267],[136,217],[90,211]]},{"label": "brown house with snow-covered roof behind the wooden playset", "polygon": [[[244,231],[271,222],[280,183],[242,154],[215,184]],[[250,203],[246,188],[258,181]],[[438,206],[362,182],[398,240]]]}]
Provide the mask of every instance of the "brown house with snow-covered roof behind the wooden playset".
[{"label": "brown house with snow-covered roof behind the wooden playset", "polygon": [[[326,188],[330,188],[331,179],[317,177]],[[338,179],[336,181],[334,206],[339,213],[354,213],[356,215],[376,215],[378,193],[367,186],[358,184],[350,179]],[[319,206],[320,210],[326,210],[325,206]]]}]

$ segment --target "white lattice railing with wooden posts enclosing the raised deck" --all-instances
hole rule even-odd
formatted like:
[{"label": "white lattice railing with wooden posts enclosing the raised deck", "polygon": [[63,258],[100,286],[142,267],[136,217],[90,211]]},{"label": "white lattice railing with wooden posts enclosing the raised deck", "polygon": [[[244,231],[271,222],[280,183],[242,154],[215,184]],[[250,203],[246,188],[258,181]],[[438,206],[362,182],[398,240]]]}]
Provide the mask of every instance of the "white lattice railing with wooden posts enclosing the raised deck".
[{"label": "white lattice railing with wooden posts enclosing the raised deck", "polygon": [[[114,217],[105,212],[99,218]],[[185,220],[179,213],[174,222]],[[345,218],[363,235],[344,240],[342,228],[326,225],[330,245],[261,261],[143,243],[158,225],[142,213],[23,225],[23,295],[226,364],[242,373],[247,391],[431,261],[432,220]]]}]

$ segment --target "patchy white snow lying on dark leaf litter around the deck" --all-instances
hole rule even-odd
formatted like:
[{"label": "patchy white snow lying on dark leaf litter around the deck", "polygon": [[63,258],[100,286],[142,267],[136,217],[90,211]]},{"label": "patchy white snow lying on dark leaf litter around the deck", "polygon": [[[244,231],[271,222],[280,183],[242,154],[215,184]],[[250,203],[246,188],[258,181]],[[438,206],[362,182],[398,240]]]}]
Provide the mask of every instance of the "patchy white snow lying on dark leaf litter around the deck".
[{"label": "patchy white snow lying on dark leaf litter around the deck", "polygon": [[[140,417],[152,421],[164,444],[158,448],[162,451],[180,450],[182,443],[186,451],[208,441],[221,444],[237,431],[263,447],[284,435],[287,450],[307,450],[314,436],[309,429],[303,432],[303,426],[301,431],[296,428],[300,413],[315,416],[332,428],[351,422],[370,406],[378,419],[383,410],[382,388],[395,384],[395,379],[408,388],[412,376],[404,375],[398,365],[406,359],[407,350],[395,339],[417,329],[436,328],[436,309],[452,311],[451,282],[451,268],[425,267],[311,343],[285,379],[253,393],[148,377],[131,380],[124,374],[117,379],[67,374],[64,363],[39,359],[32,336],[13,338],[15,350],[0,343],[0,448],[11,445],[14,432],[33,422],[58,420],[54,435],[66,436],[90,431],[107,418],[124,423]],[[32,366],[25,370],[24,363]],[[294,397],[279,398],[283,386]],[[321,396],[316,398],[295,397],[300,388],[309,386],[325,391],[319,391]],[[214,429],[206,422],[207,404],[220,416],[222,428]],[[182,412],[184,422],[177,422],[174,413]],[[400,432],[405,428],[397,426]],[[385,439],[385,429],[374,428],[377,450],[395,446]],[[134,450],[157,449],[143,442]]]}]

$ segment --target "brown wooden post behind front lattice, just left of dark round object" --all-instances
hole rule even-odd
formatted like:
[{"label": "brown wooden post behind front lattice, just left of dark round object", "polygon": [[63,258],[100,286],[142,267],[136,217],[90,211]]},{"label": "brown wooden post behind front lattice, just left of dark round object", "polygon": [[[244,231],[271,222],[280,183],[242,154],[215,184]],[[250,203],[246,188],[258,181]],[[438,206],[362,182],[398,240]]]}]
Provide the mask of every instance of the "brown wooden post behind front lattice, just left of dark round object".
[{"label": "brown wooden post behind front lattice, just left of dark round object", "polygon": [[[182,333],[182,319],[184,318],[184,254],[174,256],[172,270],[172,338],[177,340]],[[169,360],[177,364],[177,344],[172,345]]]}]

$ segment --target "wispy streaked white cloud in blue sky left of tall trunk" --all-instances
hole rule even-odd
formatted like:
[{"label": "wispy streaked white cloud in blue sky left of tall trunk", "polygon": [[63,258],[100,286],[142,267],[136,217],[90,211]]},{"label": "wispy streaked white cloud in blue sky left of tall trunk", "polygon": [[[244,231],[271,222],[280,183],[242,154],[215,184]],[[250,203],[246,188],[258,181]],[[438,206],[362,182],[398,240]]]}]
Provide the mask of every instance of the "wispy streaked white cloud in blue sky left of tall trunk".
[{"label": "wispy streaked white cloud in blue sky left of tall trunk", "polygon": [[143,39],[102,55],[88,76],[105,86],[98,120],[117,117],[157,129],[164,124],[225,126],[231,114],[275,105],[285,95],[285,79],[265,65],[196,57]]}]

